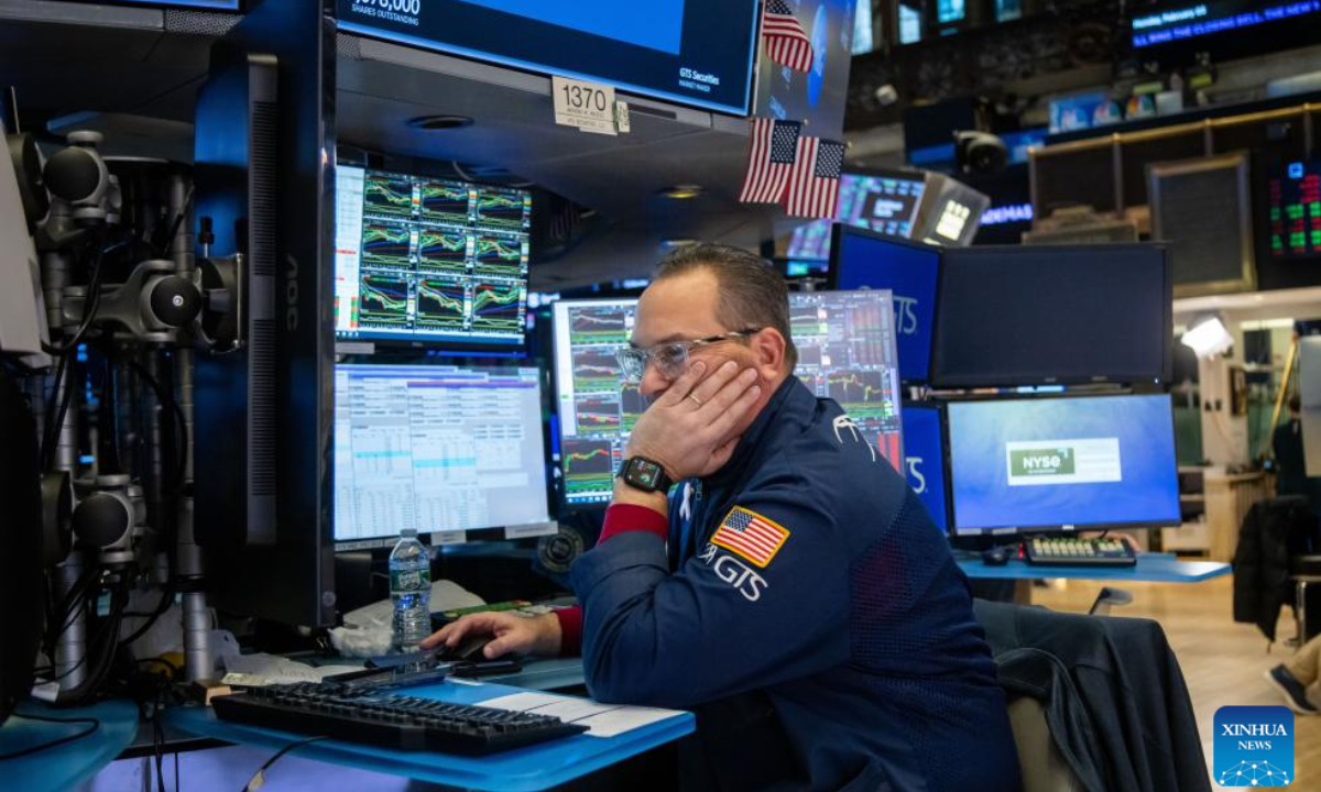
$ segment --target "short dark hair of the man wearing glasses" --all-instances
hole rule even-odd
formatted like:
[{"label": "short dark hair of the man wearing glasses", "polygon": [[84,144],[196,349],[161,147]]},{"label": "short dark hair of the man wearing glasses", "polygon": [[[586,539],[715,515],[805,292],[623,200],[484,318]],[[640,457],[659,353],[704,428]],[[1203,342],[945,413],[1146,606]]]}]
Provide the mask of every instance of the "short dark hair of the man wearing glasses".
[{"label": "short dark hair of the man wearing glasses", "polygon": [[720,321],[732,331],[774,327],[785,337],[785,363],[793,374],[798,348],[789,333],[789,286],[761,256],[728,244],[691,244],[670,253],[655,280],[707,269],[720,284]]}]

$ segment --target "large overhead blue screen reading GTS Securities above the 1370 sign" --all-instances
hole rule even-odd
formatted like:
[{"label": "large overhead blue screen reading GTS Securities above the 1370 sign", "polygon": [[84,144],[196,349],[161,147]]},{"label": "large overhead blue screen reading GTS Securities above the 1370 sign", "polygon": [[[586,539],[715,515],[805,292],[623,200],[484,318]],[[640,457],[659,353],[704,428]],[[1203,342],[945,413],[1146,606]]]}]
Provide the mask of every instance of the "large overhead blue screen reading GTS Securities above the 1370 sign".
[{"label": "large overhead blue screen reading GTS Securities above the 1370 sign", "polygon": [[[339,29],[748,115],[758,0],[337,0]],[[847,53],[845,53],[847,54]]]}]

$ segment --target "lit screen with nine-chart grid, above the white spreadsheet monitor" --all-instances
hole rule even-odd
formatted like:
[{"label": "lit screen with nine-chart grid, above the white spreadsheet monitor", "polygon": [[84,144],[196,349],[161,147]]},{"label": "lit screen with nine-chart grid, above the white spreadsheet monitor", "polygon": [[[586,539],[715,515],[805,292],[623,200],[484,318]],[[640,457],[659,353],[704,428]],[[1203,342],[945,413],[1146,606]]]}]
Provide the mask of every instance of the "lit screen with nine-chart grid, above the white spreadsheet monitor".
[{"label": "lit screen with nine-chart grid, above the white spreadsheet monitor", "polygon": [[339,339],[520,346],[532,195],[336,168]]}]

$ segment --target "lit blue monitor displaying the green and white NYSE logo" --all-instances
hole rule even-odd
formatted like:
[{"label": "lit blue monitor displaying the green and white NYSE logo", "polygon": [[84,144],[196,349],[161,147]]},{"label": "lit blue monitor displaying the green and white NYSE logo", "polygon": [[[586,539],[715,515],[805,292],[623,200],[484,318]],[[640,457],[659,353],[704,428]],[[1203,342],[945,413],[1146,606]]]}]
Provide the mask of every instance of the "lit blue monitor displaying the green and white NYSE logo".
[{"label": "lit blue monitor displaying the green and white NYSE logo", "polygon": [[947,405],[955,535],[1177,525],[1169,395]]}]

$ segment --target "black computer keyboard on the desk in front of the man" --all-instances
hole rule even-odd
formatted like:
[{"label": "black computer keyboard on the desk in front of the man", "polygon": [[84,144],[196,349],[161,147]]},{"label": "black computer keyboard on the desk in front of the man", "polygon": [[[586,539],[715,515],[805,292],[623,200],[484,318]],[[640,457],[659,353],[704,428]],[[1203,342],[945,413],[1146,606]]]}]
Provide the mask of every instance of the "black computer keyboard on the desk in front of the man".
[{"label": "black computer keyboard on the desk in front of the man", "polygon": [[251,688],[213,706],[222,721],[403,751],[483,755],[587,731],[550,715],[312,682]]}]

